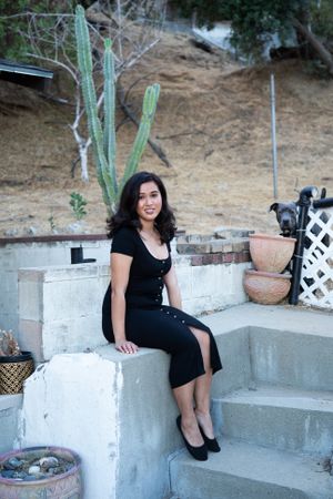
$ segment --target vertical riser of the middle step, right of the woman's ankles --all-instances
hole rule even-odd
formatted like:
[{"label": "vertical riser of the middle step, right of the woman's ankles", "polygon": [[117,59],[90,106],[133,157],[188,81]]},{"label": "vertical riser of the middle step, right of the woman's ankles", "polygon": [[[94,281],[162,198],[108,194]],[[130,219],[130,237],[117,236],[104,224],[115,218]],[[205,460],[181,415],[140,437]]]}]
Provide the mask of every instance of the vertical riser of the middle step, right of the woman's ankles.
[{"label": "vertical riser of the middle step, right of the woman's ankles", "polygon": [[332,411],[222,401],[219,419],[220,432],[251,444],[323,456],[332,451]]}]

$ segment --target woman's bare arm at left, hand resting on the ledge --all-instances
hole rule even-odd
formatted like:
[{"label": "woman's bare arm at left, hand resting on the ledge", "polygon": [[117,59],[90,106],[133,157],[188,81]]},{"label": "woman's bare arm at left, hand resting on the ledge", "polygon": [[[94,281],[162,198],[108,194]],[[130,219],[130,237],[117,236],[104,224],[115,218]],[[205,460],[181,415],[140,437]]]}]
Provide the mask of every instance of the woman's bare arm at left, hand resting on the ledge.
[{"label": "woman's bare arm at left, hand resting on the ledge", "polygon": [[111,255],[111,310],[115,348],[124,354],[134,354],[139,348],[125,336],[125,291],[129,283],[132,256],[121,253]]}]

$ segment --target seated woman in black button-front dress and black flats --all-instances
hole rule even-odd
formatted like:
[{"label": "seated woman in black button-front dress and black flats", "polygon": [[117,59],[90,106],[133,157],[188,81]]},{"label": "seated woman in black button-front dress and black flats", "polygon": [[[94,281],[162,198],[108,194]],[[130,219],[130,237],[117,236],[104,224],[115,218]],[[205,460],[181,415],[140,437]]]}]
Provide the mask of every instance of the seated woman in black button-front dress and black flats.
[{"label": "seated woman in black button-front dress and black flats", "polygon": [[[153,173],[134,174],[109,221],[112,284],[103,302],[103,333],[123,354],[134,354],[139,346],[171,354],[169,378],[180,410],[176,424],[190,454],[206,460],[208,450],[220,450],[210,389],[213,373],[222,366],[210,329],[181,310],[170,255],[174,232],[162,181]],[[162,305],[164,285],[170,306]]]}]

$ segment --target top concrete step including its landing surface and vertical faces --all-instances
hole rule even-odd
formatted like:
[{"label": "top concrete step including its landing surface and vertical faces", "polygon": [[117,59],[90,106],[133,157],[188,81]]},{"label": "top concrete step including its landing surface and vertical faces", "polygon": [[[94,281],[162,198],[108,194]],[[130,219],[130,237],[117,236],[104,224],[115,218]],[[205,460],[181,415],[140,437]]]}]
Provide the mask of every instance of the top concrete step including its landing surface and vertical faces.
[{"label": "top concrete step including its landing surface and vertical faces", "polygon": [[251,380],[332,390],[332,313],[248,303],[204,317],[224,369],[214,376],[222,397]]}]

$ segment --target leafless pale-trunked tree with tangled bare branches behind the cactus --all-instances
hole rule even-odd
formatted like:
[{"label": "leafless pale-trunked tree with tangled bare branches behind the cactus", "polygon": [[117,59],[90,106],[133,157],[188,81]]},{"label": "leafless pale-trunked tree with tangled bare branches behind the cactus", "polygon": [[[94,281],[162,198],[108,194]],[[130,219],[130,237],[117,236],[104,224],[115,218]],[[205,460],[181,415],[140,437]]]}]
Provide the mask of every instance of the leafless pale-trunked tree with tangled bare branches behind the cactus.
[{"label": "leafless pale-trunked tree with tangled bare branches behind the cactus", "polygon": [[[110,0],[99,0],[85,10],[99,109],[103,101],[103,90],[98,82],[101,81],[99,74],[102,71],[105,30],[113,41],[115,78],[119,78],[159,42],[165,6],[167,0],[117,0],[115,9],[114,7],[111,9]],[[85,128],[82,130],[84,109],[80,96],[81,81],[77,63],[74,16],[62,12],[27,11],[0,17],[7,20],[14,18],[20,18],[26,23],[26,28],[18,32],[29,47],[26,55],[51,68],[60,68],[73,81],[75,112],[69,128],[78,145],[81,177],[87,181],[89,179],[87,159],[91,141],[87,136]],[[129,91],[125,99],[129,96]],[[72,162],[72,172],[75,164],[77,161]]]}]

